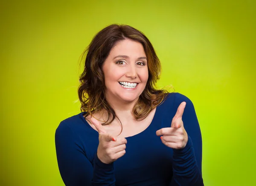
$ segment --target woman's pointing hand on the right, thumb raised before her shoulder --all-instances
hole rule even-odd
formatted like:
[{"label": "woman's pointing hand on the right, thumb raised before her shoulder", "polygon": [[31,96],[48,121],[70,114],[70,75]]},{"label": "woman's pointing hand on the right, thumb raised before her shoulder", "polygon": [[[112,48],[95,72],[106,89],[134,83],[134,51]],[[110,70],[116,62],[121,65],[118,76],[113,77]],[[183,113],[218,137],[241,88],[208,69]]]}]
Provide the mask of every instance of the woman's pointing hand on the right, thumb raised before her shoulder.
[{"label": "woman's pointing hand on the right, thumb raised before her shoulder", "polygon": [[186,106],[186,102],[182,102],[172,119],[172,125],[168,128],[161,128],[156,132],[157,136],[161,136],[164,145],[170,148],[180,149],[186,146],[188,142],[188,134],[183,127],[182,115]]}]

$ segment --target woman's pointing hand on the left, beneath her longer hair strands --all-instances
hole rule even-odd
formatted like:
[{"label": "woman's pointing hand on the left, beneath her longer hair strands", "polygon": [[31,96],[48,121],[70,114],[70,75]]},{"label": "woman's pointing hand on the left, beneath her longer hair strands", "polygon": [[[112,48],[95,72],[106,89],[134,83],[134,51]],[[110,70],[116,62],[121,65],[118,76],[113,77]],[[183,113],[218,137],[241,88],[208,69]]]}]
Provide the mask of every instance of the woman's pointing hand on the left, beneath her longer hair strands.
[{"label": "woman's pointing hand on the left, beneath her longer hair strands", "polygon": [[113,137],[108,134],[101,123],[93,117],[90,122],[95,126],[99,132],[99,146],[97,156],[102,163],[110,164],[116,161],[119,157],[125,154],[127,140],[125,138]]}]

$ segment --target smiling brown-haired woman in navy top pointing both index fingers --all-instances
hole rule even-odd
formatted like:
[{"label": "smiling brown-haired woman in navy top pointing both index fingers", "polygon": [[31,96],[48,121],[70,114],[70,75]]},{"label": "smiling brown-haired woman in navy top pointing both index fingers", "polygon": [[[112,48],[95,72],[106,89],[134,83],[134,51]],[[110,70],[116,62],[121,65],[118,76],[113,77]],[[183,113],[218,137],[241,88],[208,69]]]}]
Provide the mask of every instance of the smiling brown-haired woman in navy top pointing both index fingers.
[{"label": "smiling brown-haired woman in navy top pointing both index fingers", "polygon": [[148,38],[110,25],[92,40],[80,76],[81,113],[55,133],[66,186],[201,186],[202,139],[192,102],[156,90]]}]

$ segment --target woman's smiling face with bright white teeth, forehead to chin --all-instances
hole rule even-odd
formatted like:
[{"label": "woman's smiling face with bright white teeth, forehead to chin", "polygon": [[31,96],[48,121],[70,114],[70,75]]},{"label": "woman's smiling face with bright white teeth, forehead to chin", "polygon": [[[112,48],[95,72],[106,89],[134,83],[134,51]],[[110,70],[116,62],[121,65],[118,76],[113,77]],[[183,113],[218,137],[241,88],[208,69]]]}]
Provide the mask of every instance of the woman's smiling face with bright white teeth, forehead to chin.
[{"label": "woman's smiling face with bright white teeth, forehead to chin", "polygon": [[137,101],[148,81],[148,64],[143,45],[119,41],[103,63],[105,96],[112,102]]}]

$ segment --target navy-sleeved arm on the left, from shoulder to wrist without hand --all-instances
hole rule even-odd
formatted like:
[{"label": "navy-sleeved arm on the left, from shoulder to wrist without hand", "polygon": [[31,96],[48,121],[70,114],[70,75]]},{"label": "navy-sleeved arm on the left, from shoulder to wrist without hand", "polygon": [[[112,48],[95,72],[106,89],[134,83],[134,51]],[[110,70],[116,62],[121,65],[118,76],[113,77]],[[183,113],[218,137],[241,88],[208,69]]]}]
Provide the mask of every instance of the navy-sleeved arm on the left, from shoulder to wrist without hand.
[{"label": "navy-sleeved arm on the left, from shoulder to wrist without hand", "polygon": [[102,163],[97,155],[93,165],[72,128],[61,122],[55,132],[58,167],[66,186],[114,186],[113,163]]}]

